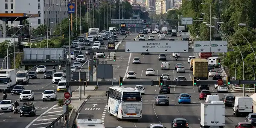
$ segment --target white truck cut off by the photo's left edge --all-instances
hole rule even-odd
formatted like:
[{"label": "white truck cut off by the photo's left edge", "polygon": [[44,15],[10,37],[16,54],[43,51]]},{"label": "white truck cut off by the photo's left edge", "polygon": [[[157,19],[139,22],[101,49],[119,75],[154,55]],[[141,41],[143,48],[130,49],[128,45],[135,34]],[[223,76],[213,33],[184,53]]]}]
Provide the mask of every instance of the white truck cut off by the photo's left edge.
[{"label": "white truck cut off by the photo's left edge", "polygon": [[25,67],[0,70],[0,91],[6,90],[11,92],[12,87],[16,85],[16,73],[19,70],[25,70]]}]

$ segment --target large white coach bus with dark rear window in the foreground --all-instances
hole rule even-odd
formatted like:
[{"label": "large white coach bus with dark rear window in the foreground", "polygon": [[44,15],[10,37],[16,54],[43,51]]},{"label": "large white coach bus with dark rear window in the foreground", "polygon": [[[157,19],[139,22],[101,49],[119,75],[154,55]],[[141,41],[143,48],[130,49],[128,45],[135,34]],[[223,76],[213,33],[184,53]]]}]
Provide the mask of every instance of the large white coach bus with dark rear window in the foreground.
[{"label": "large white coach bus with dark rear window in the foreground", "polygon": [[140,92],[131,87],[109,87],[108,112],[116,116],[116,119],[141,119],[142,96]]}]

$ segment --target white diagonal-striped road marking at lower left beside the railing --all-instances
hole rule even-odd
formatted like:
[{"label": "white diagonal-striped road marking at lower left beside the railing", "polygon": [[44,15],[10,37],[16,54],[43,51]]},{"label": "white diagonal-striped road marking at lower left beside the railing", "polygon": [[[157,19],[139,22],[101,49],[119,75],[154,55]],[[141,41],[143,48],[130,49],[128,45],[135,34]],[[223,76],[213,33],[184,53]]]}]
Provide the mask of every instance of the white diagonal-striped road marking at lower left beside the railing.
[{"label": "white diagonal-striped road marking at lower left beside the railing", "polygon": [[[43,113],[35,122],[30,125],[29,128],[45,128],[47,127],[50,123],[52,123],[55,119],[57,119],[59,116],[63,114],[63,107],[54,105],[49,111],[46,111]],[[63,125],[64,121],[61,118],[61,124]],[[58,122],[59,123],[59,122]]]}]

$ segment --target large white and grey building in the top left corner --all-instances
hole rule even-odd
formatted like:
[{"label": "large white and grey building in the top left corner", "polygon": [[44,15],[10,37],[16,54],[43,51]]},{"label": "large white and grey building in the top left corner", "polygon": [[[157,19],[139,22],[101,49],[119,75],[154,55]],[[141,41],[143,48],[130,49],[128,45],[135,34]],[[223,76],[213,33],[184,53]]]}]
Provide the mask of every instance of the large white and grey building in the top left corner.
[{"label": "large white and grey building in the top left corner", "polygon": [[[41,13],[40,17],[31,18],[31,23],[35,23],[31,25],[33,28],[46,24],[47,21],[49,27],[54,27],[68,17],[68,0],[0,0],[0,2],[2,3],[0,13]],[[0,21],[0,24],[3,24],[3,21]],[[14,26],[12,21],[6,24]],[[19,21],[15,22],[15,26],[18,24]]]}]

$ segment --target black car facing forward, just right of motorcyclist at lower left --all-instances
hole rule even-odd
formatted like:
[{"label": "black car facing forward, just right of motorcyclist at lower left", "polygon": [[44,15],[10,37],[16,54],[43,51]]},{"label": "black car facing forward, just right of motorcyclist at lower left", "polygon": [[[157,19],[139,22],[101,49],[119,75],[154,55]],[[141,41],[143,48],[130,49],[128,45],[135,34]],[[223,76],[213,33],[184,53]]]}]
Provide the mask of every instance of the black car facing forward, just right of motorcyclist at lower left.
[{"label": "black car facing forward, just right of motorcyclist at lower left", "polygon": [[35,116],[35,113],[36,113],[35,106],[32,102],[25,102],[20,108],[20,117]]}]

